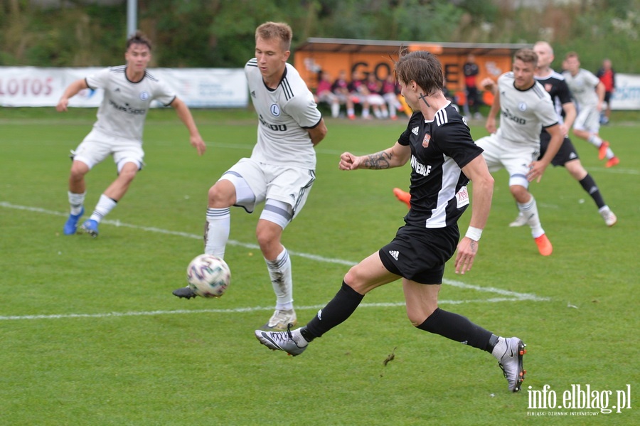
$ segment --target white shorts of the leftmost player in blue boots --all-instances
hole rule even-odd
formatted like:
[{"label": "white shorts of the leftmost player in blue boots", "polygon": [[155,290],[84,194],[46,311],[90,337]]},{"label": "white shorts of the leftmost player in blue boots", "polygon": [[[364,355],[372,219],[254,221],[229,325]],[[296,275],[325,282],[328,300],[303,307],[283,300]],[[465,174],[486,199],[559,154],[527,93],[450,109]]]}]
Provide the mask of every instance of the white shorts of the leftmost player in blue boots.
[{"label": "white shorts of the leftmost player in blue boots", "polygon": [[92,129],[78,145],[78,148],[71,152],[74,161],[82,161],[89,166],[89,169],[92,169],[93,166],[102,162],[109,155],[113,156],[118,173],[122,170],[122,166],[127,163],[137,164],[138,169],[142,169],[144,165],[142,142],[115,137],[96,129]]}]

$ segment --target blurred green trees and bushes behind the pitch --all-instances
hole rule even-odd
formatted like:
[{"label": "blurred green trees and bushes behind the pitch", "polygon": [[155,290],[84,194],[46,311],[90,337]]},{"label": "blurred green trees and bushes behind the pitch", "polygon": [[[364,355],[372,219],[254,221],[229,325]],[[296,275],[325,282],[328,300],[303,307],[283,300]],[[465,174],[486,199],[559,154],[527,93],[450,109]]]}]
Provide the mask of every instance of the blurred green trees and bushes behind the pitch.
[{"label": "blurred green trees and bushes behind the pitch", "polygon": [[[102,66],[124,61],[127,1],[0,0],[0,65]],[[139,28],[162,67],[238,68],[255,27],[285,21],[309,37],[467,43],[551,43],[597,70],[611,58],[640,73],[640,0],[138,0]],[[558,68],[560,64],[554,64]]]}]

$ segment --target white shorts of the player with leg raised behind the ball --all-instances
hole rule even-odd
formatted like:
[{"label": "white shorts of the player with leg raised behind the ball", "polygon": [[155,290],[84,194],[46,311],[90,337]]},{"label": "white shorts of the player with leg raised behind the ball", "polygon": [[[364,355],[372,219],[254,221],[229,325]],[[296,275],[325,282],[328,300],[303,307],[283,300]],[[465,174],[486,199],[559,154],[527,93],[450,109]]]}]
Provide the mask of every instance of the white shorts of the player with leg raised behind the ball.
[{"label": "white shorts of the player with leg raised behind the ball", "polygon": [[220,180],[226,179],[233,183],[237,180],[234,176],[244,179],[255,196],[254,200],[239,200],[238,206],[252,213],[256,204],[262,201],[267,199],[281,201],[291,206],[292,219],[302,210],[311,186],[316,180],[314,170],[274,166],[247,158],[240,159],[238,163],[231,166]]}]

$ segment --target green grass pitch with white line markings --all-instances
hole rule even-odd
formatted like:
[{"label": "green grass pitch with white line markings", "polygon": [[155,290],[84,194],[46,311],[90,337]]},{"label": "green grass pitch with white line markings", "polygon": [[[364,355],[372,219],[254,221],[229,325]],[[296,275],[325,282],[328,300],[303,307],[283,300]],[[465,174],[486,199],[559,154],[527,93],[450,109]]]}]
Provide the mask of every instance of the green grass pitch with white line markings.
[{"label": "green grass pitch with white line markings", "polygon": [[[95,110],[1,110],[1,425],[637,424],[639,125],[602,128],[621,159],[613,169],[574,139],[618,216],[613,228],[564,169],[550,168],[531,185],[554,245],[550,257],[538,255],[528,228],[508,228],[517,212],[500,171],[473,270],[447,267],[443,309],[528,344],[528,373],[514,395],[488,353],[412,327],[399,282],[369,294],[302,356],[261,346],[253,330],[272,314],[274,295],[255,242],[259,213],[232,210],[224,297],[173,297],[203,250],[208,188],[255,142],[252,112],[194,115],[208,143],[202,157],[173,111],[149,113],[146,166],[93,240],[62,228],[68,151]],[[406,211],[392,189],[407,187],[408,166],[339,171],[339,154],[385,149],[405,124],[327,120],[316,183],[284,232],[301,324],[333,297],[349,265],[393,238]],[[482,123],[472,134],[486,134]],[[87,175],[87,214],[114,176],[110,159]],[[549,385],[560,405],[577,384],[611,390],[609,406],[630,385],[632,408],[529,407],[529,387]]]}]

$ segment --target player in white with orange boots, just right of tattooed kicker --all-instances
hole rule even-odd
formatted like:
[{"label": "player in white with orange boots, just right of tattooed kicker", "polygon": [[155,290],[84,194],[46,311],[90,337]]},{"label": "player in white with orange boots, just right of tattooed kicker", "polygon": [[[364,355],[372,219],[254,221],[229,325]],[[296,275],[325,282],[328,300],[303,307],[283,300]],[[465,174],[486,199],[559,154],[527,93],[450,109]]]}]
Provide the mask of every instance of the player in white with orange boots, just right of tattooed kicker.
[{"label": "player in white with orange boots, just right of tattooed kicker", "polygon": [[[560,149],[562,131],[558,115],[548,92],[535,81],[538,56],[531,49],[521,49],[513,57],[513,71],[498,78],[498,91],[491,105],[486,129],[491,135],[476,141],[490,171],[505,168],[509,174],[509,190],[518,210],[527,218],[531,235],[540,255],[548,256],[553,246],[540,224],[538,206],[528,191],[529,182],[540,181],[545,169]],[[496,132],[496,115],[501,110],[500,128]],[[540,131],[551,135],[544,156],[540,153]]]}]

